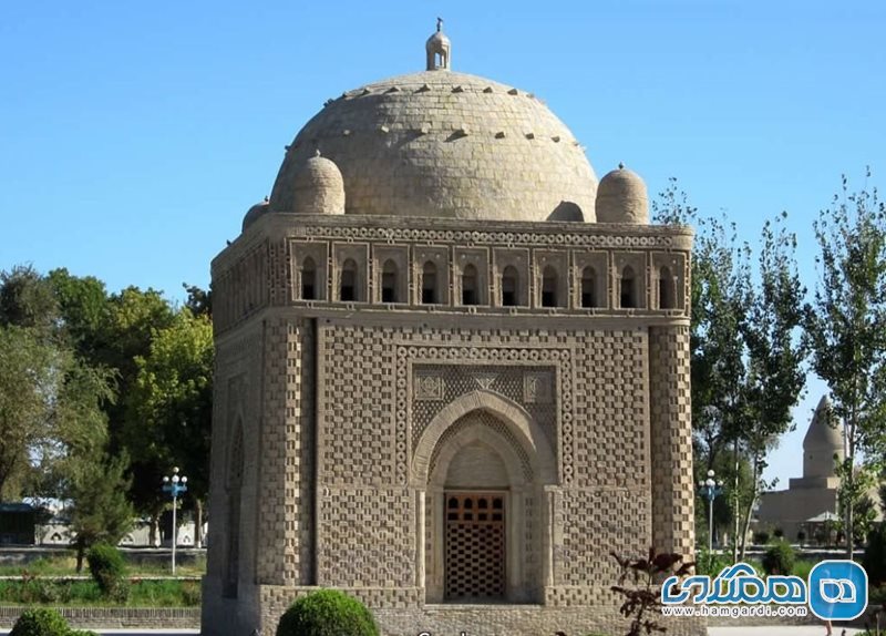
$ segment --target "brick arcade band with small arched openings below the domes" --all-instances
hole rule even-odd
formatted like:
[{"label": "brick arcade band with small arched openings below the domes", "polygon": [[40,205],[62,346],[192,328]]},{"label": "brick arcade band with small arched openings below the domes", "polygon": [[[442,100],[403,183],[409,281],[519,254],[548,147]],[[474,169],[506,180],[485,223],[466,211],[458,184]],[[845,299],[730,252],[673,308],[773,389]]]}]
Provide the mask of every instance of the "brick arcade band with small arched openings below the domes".
[{"label": "brick arcade band with small arched openings below the domes", "polygon": [[[298,304],[308,306],[338,304],[334,288],[336,273],[341,263],[318,258],[348,250],[354,245],[368,247],[356,258],[359,274],[356,301],[382,304],[381,264],[391,257],[395,247],[398,261],[398,302],[383,302],[385,309],[434,310],[435,306],[421,304],[421,271],[426,256],[435,255],[440,273],[440,301],[467,314],[483,314],[490,307],[502,311],[501,275],[505,264],[514,265],[519,254],[522,264],[517,298],[519,307],[508,314],[544,310],[560,315],[578,312],[584,316],[658,315],[686,316],[686,293],[677,295],[677,306],[660,309],[649,304],[647,291],[656,288],[658,269],[649,267],[653,259],[667,256],[676,263],[676,288],[688,286],[690,235],[687,232],[663,232],[655,226],[638,225],[628,232],[614,232],[614,227],[596,224],[521,224],[502,222],[470,222],[454,219],[415,219],[404,226],[402,219],[379,223],[374,217],[352,215],[312,215],[305,224],[289,223],[292,215],[265,215],[258,226],[261,232],[249,230],[213,264],[213,289],[216,315],[214,327],[222,334],[236,327],[257,310],[269,305]],[[267,220],[265,220],[267,219]],[[388,220],[392,220],[388,223]],[[622,228],[624,229],[624,228]],[[307,252],[306,252],[307,249]],[[298,267],[310,252],[317,266],[317,285],[313,298],[301,298]],[[476,268],[478,305],[464,306],[461,294],[461,271],[465,255],[472,257]],[[481,255],[482,257],[477,257]],[[640,275],[642,291],[638,309],[624,310],[609,302],[597,307],[581,305],[581,268],[566,267],[567,263],[593,260],[596,271],[596,293],[599,299],[616,295],[617,276],[606,264],[622,263],[632,258]],[[557,307],[542,307],[542,271],[554,264],[557,270]],[[331,287],[327,287],[327,285]]]}]

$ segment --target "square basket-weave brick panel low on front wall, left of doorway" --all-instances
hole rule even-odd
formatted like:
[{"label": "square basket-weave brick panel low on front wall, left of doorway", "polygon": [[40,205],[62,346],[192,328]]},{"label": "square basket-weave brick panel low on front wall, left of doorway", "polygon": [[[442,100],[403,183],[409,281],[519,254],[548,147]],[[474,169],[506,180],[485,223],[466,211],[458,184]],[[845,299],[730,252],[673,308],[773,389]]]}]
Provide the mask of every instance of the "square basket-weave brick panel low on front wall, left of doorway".
[{"label": "square basket-weave brick panel low on front wall, left of doorway", "polygon": [[329,489],[318,511],[321,585],[415,583],[415,511],[404,489]]}]

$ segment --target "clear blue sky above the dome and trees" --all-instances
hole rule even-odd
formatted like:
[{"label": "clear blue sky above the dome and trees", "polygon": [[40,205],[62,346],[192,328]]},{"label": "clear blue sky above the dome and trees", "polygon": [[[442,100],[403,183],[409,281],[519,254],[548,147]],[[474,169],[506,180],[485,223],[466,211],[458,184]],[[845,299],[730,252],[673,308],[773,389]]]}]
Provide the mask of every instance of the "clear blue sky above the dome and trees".
[{"label": "clear blue sky above the dome and trees", "polygon": [[[650,194],[754,240],[787,211],[814,285],[812,220],[846,173],[886,174],[886,4],[157,1],[0,3],[0,269],[32,263],[111,290],[208,285],[324,100],[419,71],[435,18],[454,70],[534,92]],[[801,429],[823,387],[797,408]],[[803,430],[769,476],[801,472]]]}]

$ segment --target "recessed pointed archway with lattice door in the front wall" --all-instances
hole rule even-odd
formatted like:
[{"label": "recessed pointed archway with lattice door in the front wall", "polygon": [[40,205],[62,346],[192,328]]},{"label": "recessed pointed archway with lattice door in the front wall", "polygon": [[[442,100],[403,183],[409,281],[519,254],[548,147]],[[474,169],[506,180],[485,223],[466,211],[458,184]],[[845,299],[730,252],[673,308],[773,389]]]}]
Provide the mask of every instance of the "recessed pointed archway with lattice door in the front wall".
[{"label": "recessed pointed archway with lattice door in the front wall", "polygon": [[556,464],[522,407],[490,391],[454,400],[415,447],[413,483],[425,502],[426,602],[540,601],[548,524],[539,503]]}]

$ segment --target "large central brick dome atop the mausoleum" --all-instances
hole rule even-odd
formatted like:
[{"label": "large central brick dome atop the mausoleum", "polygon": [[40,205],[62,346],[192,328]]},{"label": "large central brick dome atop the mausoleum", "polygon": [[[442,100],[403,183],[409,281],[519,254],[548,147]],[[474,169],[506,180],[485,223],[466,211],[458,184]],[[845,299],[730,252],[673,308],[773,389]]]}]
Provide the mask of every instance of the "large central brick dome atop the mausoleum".
[{"label": "large central brick dome atop the mausoleum", "polygon": [[567,206],[596,220],[597,178],[569,130],[476,75],[424,71],[331,100],[289,146],[272,211],[299,207],[298,174],[318,150],[341,171],[346,214],[545,220]]}]

